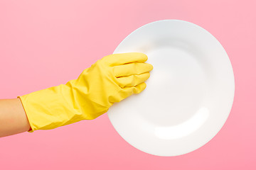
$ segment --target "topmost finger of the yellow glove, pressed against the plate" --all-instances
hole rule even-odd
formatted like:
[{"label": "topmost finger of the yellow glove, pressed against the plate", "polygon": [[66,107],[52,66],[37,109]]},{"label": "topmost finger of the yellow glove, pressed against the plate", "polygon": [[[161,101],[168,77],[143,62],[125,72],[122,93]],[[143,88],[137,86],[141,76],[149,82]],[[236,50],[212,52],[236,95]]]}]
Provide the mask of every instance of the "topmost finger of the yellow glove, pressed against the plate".
[{"label": "topmost finger of the yellow glove, pressed against the plate", "polygon": [[106,62],[110,66],[116,66],[121,64],[127,64],[131,62],[146,62],[148,57],[142,52],[127,52],[113,55],[107,55],[105,57]]}]

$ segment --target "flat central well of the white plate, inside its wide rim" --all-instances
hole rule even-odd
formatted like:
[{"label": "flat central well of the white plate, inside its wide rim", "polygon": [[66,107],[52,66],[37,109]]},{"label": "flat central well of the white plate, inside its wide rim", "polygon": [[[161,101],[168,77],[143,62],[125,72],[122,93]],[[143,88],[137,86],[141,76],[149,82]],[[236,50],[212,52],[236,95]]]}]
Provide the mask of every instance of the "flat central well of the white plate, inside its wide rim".
[{"label": "flat central well of the white plate, inside its wide rim", "polygon": [[[154,69],[146,81],[144,94],[149,99],[144,102],[145,106],[140,106],[144,111],[139,111],[145,120],[161,126],[178,125],[203,107],[206,73],[198,54],[181,47],[160,47],[146,53],[147,62]],[[144,98],[143,93],[139,97]]]}]

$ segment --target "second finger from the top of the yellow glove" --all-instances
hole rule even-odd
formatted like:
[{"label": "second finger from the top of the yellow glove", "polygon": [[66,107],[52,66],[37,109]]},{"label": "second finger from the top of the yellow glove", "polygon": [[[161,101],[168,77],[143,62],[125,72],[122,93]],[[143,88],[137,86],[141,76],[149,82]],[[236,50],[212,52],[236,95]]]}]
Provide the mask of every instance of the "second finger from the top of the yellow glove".
[{"label": "second finger from the top of the yellow glove", "polygon": [[132,74],[142,74],[150,72],[153,66],[145,62],[133,62],[129,64],[122,64],[113,67],[115,77],[130,76]]}]

